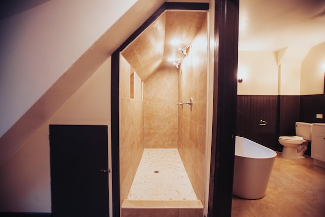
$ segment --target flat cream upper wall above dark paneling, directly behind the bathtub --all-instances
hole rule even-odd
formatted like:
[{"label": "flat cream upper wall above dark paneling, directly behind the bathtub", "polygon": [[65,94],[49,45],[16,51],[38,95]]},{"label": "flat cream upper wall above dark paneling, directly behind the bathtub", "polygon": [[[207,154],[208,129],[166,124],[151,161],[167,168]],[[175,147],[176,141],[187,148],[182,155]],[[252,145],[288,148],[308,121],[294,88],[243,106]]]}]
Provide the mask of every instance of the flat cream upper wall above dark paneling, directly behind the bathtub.
[{"label": "flat cream upper wall above dark paneling, directly behind the bathtub", "polygon": [[238,51],[238,95],[278,95],[277,54],[272,51]]}]

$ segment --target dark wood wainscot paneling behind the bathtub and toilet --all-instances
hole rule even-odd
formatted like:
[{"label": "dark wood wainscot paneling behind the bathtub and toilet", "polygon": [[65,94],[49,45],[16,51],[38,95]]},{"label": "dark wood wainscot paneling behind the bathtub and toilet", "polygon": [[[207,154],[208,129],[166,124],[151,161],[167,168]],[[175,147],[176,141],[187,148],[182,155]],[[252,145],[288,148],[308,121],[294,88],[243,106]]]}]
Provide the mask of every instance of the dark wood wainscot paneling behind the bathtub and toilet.
[{"label": "dark wood wainscot paneling behind the bathtub and toilet", "polygon": [[[324,118],[317,119],[316,114]],[[259,126],[261,119],[267,121],[266,126]],[[282,151],[278,137],[294,136],[296,121],[325,122],[325,95],[237,96],[237,136]],[[310,147],[305,153],[308,156]]]}]

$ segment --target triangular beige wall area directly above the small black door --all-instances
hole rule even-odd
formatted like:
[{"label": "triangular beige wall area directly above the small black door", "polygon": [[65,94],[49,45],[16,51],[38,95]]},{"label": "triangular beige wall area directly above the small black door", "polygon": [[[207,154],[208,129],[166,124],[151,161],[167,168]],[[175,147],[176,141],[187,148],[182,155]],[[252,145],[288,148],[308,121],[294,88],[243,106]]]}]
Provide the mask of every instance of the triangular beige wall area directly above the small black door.
[{"label": "triangular beige wall area directly above the small black door", "polygon": [[111,57],[51,117],[50,124],[107,125],[111,121]]}]

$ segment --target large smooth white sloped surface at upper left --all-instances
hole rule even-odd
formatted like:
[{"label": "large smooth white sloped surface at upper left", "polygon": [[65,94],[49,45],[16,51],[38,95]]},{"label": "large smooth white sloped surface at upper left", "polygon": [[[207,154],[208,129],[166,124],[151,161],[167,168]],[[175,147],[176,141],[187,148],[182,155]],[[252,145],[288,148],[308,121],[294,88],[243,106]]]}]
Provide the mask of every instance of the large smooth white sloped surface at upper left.
[{"label": "large smooth white sloped surface at upper left", "polygon": [[136,2],[56,0],[1,20],[0,137]]}]

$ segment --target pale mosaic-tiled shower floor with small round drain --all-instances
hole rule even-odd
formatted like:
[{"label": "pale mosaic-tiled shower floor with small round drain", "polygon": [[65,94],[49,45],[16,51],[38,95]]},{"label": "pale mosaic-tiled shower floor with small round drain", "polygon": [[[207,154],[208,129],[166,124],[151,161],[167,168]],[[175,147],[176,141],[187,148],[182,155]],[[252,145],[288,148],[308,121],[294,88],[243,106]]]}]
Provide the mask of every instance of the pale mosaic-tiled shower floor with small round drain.
[{"label": "pale mosaic-tiled shower floor with small round drain", "polygon": [[127,200],[198,200],[177,148],[145,148]]}]

